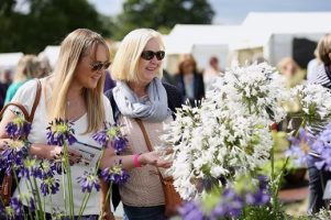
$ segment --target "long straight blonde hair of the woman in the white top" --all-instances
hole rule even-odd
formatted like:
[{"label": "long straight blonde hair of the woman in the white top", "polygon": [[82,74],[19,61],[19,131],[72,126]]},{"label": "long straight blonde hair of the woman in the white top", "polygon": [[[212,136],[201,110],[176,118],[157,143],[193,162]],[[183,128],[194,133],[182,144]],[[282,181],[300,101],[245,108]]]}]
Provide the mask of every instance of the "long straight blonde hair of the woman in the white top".
[{"label": "long straight blonde hair of the woman in the white top", "polygon": [[[109,59],[109,50],[98,33],[87,29],[78,29],[66,36],[62,42],[57,66],[54,72],[54,85],[51,99],[47,101],[48,117],[51,120],[66,118],[66,99],[69,86],[74,80],[75,69],[79,61],[92,54],[96,56],[98,45],[104,46]],[[103,108],[104,75],[100,78],[95,89],[84,89],[87,106],[88,128],[86,133],[100,129],[106,120]]]}]

